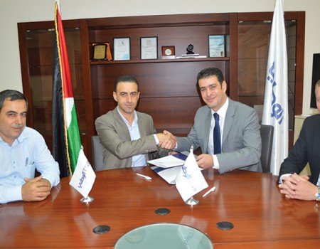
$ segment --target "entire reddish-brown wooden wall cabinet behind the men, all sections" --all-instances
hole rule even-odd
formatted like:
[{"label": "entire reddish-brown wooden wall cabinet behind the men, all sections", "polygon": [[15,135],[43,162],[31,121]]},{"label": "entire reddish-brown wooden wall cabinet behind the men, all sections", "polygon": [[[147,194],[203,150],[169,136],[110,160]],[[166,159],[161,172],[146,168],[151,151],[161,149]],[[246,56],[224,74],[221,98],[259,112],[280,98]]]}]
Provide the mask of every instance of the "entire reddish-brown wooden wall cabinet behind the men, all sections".
[{"label": "entire reddish-brown wooden wall cabinet behind the men, all sections", "polygon": [[[294,89],[302,91],[304,12],[288,12],[294,20]],[[264,20],[267,26],[264,27]],[[268,22],[269,20],[269,22]],[[156,129],[186,135],[198,107],[204,105],[196,86],[203,68],[217,67],[228,83],[228,95],[247,105],[261,105],[270,40],[272,13],[181,14],[89,18],[64,21],[73,77],[75,104],[82,143],[91,160],[90,137],[96,134],[95,119],[114,109],[114,80],[131,74],[141,92],[137,110],[154,118]],[[28,125],[50,142],[53,22],[18,23],[23,92],[31,103]],[[208,57],[208,36],[228,36],[228,57]],[[130,60],[92,60],[92,43],[130,38]],[[142,60],[140,39],[157,37],[158,59]],[[226,41],[225,41],[226,43]],[[259,44],[262,43],[262,47]],[[162,59],[161,46],[174,46],[176,55],[193,44],[195,53],[207,58]],[[302,95],[301,95],[302,96]],[[302,110],[302,97],[294,94],[294,113]],[[297,110],[297,112],[296,112]]]}]

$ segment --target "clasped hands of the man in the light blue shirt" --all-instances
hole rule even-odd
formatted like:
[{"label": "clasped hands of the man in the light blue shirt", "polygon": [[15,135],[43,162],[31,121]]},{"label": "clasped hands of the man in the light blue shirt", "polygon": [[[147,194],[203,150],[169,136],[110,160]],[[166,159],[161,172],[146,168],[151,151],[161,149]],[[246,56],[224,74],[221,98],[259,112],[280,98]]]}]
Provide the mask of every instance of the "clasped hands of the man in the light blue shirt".
[{"label": "clasped hands of the man in the light blue shirt", "polygon": [[22,185],[21,194],[23,201],[43,201],[47,198],[51,191],[50,182],[38,176],[34,179],[24,179],[25,184]]}]

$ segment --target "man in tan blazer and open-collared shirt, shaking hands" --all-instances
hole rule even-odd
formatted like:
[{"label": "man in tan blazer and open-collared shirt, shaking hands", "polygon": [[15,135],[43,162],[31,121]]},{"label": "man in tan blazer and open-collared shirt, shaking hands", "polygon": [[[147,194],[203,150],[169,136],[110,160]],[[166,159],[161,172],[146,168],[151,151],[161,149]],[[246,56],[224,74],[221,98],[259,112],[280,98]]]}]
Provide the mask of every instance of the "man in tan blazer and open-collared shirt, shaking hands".
[{"label": "man in tan blazer and open-collared shirt, shaking hands", "polygon": [[166,142],[174,147],[176,139],[171,134],[156,134],[150,115],[137,112],[139,83],[134,76],[124,75],[114,83],[114,110],[95,120],[95,128],[104,147],[104,169],[145,166],[148,160],[168,155],[159,146]]}]

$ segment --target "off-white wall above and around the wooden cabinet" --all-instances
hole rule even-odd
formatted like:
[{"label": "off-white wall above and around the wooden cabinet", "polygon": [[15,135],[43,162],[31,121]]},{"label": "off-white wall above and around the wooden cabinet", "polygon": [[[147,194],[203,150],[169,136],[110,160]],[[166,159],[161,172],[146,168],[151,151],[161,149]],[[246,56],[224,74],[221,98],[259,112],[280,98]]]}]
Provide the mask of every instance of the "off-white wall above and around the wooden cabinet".
[{"label": "off-white wall above and around the wooden cabinet", "polygon": [[[311,113],[312,55],[320,53],[320,1],[283,0],[284,11],[306,11],[303,113]],[[63,19],[160,14],[274,11],[275,0],[60,0]],[[120,4],[121,3],[121,4]],[[53,20],[55,0],[0,0],[0,90],[21,90],[18,22]]]}]

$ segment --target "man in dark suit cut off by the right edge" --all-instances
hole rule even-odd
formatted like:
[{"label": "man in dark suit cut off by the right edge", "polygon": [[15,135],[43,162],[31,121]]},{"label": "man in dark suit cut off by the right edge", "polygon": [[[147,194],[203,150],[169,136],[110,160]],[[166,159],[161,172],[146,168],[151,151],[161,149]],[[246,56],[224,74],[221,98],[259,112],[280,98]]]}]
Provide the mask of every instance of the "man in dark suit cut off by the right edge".
[{"label": "man in dark suit cut off by the right edge", "polygon": [[[315,94],[319,114],[306,117],[297,142],[281,164],[279,188],[287,198],[320,201],[320,80]],[[299,176],[308,162],[311,176]]]}]

